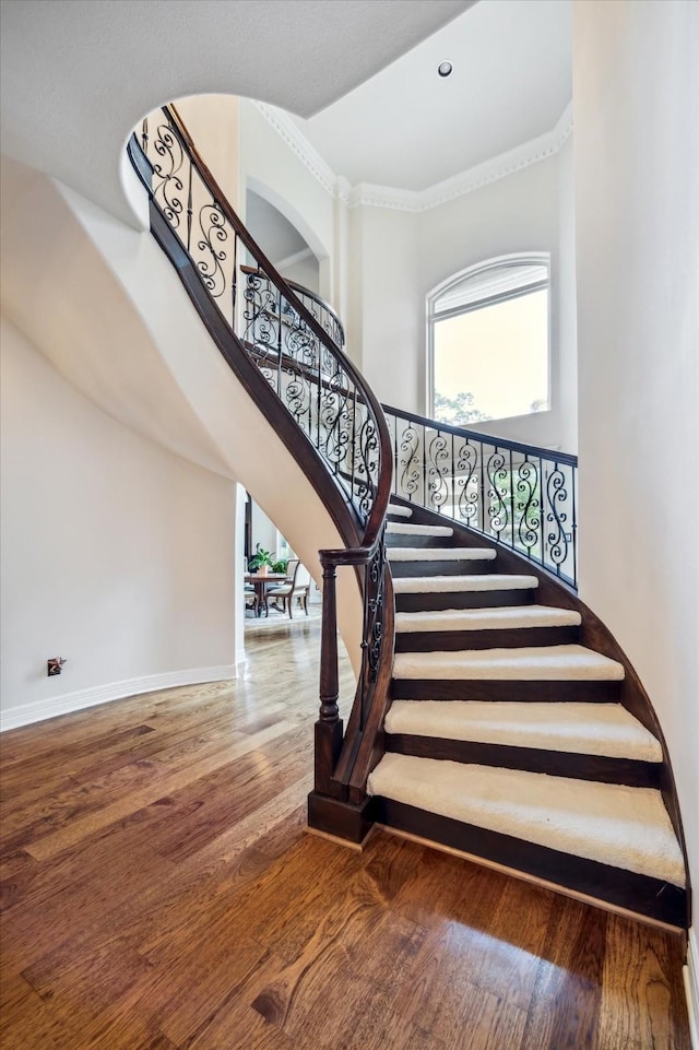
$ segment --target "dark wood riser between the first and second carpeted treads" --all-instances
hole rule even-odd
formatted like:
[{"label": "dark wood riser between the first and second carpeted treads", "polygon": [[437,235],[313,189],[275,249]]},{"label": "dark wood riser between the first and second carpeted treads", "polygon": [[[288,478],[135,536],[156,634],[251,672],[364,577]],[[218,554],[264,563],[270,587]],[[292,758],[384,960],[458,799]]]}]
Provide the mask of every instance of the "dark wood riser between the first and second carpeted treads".
[{"label": "dark wood riser between the first and second carpeted treads", "polygon": [[464,762],[477,766],[499,766],[505,769],[522,769],[525,772],[545,772],[549,777],[569,777],[572,780],[623,783],[629,788],[659,788],[662,769],[661,763],[633,758],[513,747],[510,744],[483,744],[439,736],[415,736],[411,733],[387,733],[386,750],[396,755]]}]

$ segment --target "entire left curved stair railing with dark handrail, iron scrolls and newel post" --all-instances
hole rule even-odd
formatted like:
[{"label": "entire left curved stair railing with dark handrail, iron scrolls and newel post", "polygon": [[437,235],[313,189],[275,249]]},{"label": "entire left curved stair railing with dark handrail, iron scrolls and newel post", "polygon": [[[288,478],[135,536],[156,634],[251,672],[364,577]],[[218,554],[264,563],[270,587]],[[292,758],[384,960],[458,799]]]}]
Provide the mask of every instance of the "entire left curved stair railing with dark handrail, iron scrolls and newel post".
[{"label": "entire left curved stair railing with dark handrail, iron scrolls and newel post", "polygon": [[[391,639],[384,645],[383,545],[392,461],[381,406],[342,352],[344,333],[333,311],[312,293],[299,295],[276,272],[176,109],[151,114],[128,152],[150,194],[152,232],[218,349],[258,403],[264,402],[272,424],[289,436],[311,482],[327,493],[331,479],[331,489],[342,496],[330,503],[347,546],[320,552],[325,586],[316,789],[359,801],[369,769],[358,767],[357,756],[381,662],[390,666],[392,658]],[[343,565],[358,571],[365,610],[362,671],[346,734],[337,708],[335,624],[335,570]]]}]

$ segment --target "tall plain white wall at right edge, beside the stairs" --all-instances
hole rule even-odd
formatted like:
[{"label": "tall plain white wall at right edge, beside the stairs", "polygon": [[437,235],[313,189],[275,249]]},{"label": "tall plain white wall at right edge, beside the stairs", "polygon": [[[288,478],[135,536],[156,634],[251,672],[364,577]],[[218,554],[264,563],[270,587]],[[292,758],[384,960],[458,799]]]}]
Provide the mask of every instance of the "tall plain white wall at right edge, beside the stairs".
[{"label": "tall plain white wall at right edge, beside the stairs", "polygon": [[580,593],[660,717],[699,883],[699,7],[573,21]]}]

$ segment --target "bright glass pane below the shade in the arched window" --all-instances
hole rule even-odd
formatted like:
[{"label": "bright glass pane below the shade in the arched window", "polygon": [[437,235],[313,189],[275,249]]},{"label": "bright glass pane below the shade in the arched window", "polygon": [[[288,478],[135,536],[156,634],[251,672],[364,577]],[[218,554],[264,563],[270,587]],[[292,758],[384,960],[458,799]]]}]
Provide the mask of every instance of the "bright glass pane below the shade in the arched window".
[{"label": "bright glass pane below the shade in the arched window", "polygon": [[435,417],[443,423],[547,409],[548,291],[436,319],[434,377]]}]

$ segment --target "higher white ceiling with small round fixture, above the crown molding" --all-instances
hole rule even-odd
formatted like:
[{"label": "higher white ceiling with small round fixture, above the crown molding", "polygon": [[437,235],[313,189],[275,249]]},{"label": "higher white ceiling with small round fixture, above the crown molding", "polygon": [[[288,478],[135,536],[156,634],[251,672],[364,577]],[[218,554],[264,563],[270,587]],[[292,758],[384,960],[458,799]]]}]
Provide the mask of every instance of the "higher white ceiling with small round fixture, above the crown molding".
[{"label": "higher white ceiling with small round fixture, above the crown molding", "polygon": [[[423,190],[550,131],[572,95],[571,0],[479,0],[310,119],[336,175]],[[453,72],[437,67],[448,59]]]}]

